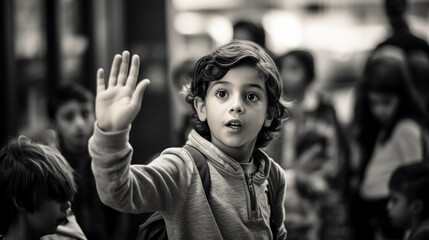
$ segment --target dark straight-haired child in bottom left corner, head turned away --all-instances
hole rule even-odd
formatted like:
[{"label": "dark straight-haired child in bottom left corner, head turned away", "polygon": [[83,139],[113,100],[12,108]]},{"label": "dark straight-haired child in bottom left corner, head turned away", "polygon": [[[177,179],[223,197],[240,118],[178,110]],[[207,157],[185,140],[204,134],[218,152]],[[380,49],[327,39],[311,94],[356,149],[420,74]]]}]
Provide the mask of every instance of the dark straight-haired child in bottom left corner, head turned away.
[{"label": "dark straight-haired child in bottom left corner, head turned away", "polygon": [[[0,151],[0,192],[0,239],[38,239],[67,222],[76,184],[56,149],[21,136]],[[52,239],[86,239],[72,227]]]}]

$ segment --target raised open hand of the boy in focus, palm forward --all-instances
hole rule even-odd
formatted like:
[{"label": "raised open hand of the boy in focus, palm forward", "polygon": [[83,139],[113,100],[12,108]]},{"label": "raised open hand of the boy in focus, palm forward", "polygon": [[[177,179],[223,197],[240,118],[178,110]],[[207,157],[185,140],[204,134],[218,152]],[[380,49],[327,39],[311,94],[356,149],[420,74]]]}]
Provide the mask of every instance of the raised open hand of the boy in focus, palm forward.
[{"label": "raised open hand of the boy in focus, palm forward", "polygon": [[124,51],[113,59],[108,86],[104,84],[104,71],[97,71],[97,96],[95,116],[98,127],[103,131],[126,129],[137,116],[146,87],[150,81],[145,79],[137,84],[140,59],[134,55],[130,63],[130,53]]}]

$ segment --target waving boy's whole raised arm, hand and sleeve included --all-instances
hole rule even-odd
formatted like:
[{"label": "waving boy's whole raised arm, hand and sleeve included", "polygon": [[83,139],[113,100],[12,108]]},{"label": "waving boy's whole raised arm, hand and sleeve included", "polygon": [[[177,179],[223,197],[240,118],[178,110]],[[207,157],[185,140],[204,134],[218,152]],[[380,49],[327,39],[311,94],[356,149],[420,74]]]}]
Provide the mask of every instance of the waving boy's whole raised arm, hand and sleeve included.
[{"label": "waving boy's whole raised arm, hand and sleeve included", "polygon": [[[137,84],[139,57],[124,51],[113,59],[107,88],[104,71],[97,72],[96,126],[89,141],[92,170],[101,200],[125,212],[165,210],[174,196],[189,186],[189,169],[184,150],[166,154],[151,166],[131,166],[132,147],[128,143],[131,122],[137,116],[149,80]],[[179,156],[181,155],[181,156]],[[184,170],[184,171],[183,171]],[[175,206],[174,204],[171,206]]]}]

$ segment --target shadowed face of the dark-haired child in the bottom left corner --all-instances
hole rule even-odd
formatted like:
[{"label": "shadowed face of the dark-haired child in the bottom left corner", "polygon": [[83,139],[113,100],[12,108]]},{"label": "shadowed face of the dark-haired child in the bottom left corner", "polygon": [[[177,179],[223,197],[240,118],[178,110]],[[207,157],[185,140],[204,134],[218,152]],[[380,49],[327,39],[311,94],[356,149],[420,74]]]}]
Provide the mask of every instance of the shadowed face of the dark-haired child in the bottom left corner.
[{"label": "shadowed face of the dark-haired child in the bottom left corner", "polygon": [[29,229],[39,236],[52,234],[57,231],[66,219],[66,211],[70,208],[70,202],[58,202],[51,198],[45,198],[40,202],[39,209],[33,213],[25,212],[24,220]]}]

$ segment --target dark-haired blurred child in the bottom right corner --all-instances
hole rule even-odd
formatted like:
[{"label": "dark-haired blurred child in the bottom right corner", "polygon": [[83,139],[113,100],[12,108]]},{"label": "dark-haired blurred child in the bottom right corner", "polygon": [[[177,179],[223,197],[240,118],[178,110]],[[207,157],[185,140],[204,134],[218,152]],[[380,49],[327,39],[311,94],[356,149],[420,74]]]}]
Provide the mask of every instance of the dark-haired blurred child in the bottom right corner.
[{"label": "dark-haired blurred child in the bottom right corner", "polygon": [[407,230],[404,239],[429,239],[429,166],[414,163],[399,167],[389,188],[389,216],[393,224]]}]

